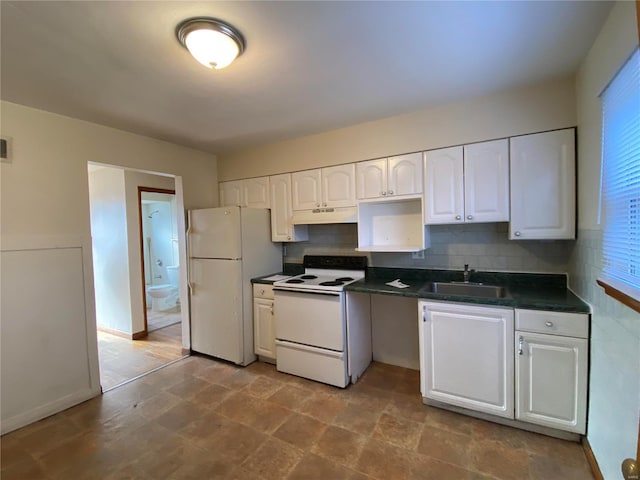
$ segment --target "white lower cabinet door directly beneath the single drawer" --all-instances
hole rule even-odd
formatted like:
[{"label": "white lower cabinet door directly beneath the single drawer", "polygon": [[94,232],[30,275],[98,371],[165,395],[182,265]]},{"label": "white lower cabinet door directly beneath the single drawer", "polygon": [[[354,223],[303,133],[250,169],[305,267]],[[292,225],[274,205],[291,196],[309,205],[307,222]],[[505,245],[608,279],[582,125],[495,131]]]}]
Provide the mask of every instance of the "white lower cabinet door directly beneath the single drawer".
[{"label": "white lower cabinet door directly beneath the single drawer", "polygon": [[587,340],[516,332],[515,347],[516,418],[584,434]]}]

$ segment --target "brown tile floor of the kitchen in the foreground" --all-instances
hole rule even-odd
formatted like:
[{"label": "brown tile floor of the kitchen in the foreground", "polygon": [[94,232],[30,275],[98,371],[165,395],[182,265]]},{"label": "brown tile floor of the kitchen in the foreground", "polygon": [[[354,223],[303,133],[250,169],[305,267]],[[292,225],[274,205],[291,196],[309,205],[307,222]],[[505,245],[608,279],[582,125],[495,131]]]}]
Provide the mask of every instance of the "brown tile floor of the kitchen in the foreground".
[{"label": "brown tile floor of the kitchen in the foreground", "polygon": [[1,439],[3,480],[593,478],[579,444],[421,404],[413,370],[346,390],[192,356]]}]

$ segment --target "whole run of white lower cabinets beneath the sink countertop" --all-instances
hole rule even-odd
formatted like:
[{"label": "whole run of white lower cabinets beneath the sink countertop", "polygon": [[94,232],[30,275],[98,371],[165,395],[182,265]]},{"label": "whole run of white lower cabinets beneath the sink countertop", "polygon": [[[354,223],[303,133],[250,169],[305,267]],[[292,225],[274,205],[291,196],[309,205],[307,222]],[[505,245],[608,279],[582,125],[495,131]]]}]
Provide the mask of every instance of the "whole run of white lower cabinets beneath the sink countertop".
[{"label": "whole run of white lower cabinets beneath the sink countertop", "polygon": [[588,314],[419,305],[425,401],[586,433]]}]

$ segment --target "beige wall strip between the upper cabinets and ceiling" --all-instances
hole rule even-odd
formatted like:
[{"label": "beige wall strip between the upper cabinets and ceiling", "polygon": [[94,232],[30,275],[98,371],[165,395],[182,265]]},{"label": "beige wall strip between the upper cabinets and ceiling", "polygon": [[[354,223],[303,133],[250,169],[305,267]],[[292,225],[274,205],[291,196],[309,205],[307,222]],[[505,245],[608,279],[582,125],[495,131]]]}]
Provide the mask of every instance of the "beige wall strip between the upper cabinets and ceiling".
[{"label": "beige wall strip between the upper cabinets and ceiling", "polygon": [[218,175],[273,175],[572,127],[575,113],[574,79],[564,78],[219,155]]}]

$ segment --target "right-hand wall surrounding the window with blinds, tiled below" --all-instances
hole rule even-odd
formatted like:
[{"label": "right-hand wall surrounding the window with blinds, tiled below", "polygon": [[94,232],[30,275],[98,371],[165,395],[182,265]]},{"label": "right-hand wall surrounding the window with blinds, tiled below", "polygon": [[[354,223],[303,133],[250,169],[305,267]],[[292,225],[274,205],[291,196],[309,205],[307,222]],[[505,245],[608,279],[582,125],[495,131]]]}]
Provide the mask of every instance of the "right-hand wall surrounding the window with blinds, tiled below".
[{"label": "right-hand wall surrounding the window with blinds, tiled below", "polygon": [[578,110],[578,241],[571,288],[593,308],[587,438],[604,478],[622,478],[635,457],[640,411],[640,314],[596,285],[602,267],[598,225],[602,112],[599,94],[638,44],[634,2],[618,2],[576,76]]}]

